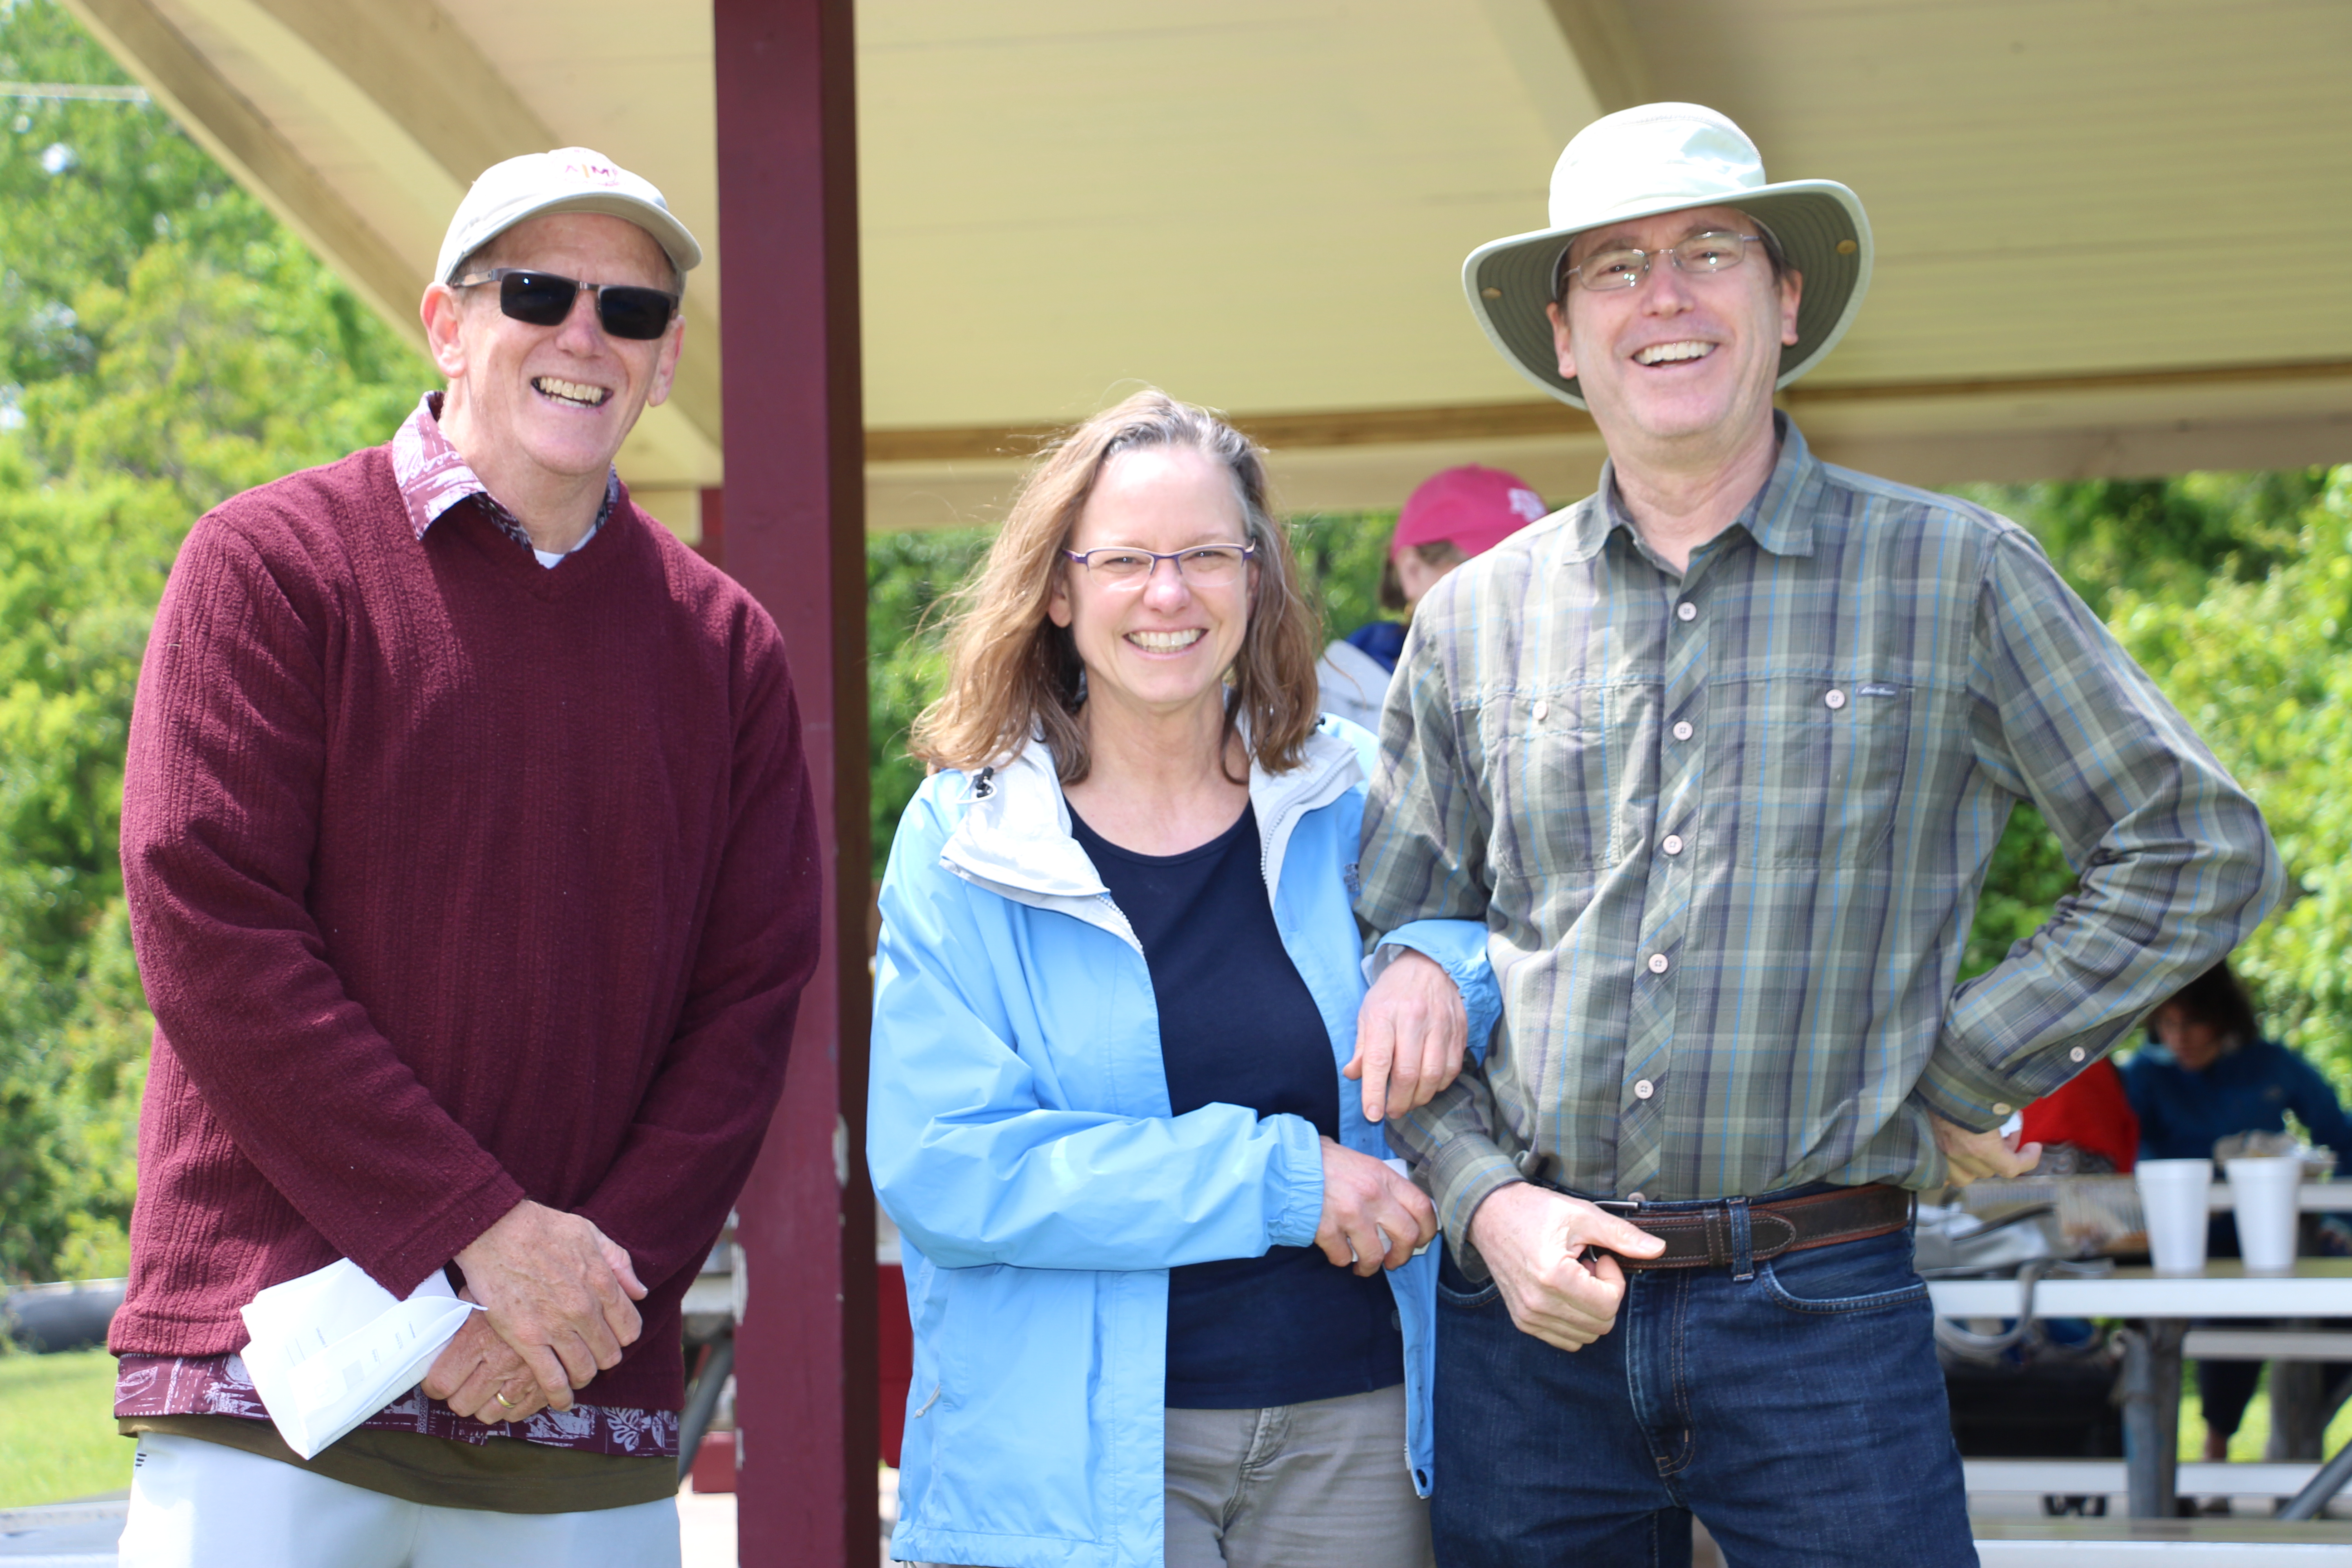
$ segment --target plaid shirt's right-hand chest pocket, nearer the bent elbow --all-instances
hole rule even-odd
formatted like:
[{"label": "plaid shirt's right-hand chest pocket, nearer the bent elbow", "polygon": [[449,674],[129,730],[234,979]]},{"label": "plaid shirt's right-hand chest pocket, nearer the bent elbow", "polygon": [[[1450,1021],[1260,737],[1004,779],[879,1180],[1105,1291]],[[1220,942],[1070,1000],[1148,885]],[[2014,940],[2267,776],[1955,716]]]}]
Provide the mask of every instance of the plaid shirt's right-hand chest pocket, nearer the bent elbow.
[{"label": "plaid shirt's right-hand chest pocket, nearer the bent elbow", "polygon": [[1912,689],[1879,679],[1715,682],[1708,804],[1740,865],[1870,865],[1893,830]]}]

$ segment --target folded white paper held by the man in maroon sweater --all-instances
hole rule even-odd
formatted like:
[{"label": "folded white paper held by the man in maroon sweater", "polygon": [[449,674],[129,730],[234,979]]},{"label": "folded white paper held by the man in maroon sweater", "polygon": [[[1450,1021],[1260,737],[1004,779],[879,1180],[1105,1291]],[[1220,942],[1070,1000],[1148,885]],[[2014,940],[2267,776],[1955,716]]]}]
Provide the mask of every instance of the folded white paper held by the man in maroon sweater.
[{"label": "folded white paper held by the man in maroon sweater", "polygon": [[341,1258],[245,1302],[245,1371],[287,1448],[308,1460],[423,1382],[470,1312],[480,1307],[440,1269],[397,1300]]}]

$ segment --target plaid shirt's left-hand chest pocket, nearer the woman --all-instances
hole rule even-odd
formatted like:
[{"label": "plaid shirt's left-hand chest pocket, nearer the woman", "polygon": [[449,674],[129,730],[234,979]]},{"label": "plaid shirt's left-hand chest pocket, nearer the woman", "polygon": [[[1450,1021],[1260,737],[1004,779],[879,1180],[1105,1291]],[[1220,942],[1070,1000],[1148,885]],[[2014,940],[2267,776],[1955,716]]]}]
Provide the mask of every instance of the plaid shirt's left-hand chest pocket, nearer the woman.
[{"label": "plaid shirt's left-hand chest pocket, nearer the woman", "polygon": [[1658,750],[1651,686],[1588,686],[1491,703],[1489,860],[1503,877],[1576,877],[1625,858],[1632,844],[1630,769]]}]

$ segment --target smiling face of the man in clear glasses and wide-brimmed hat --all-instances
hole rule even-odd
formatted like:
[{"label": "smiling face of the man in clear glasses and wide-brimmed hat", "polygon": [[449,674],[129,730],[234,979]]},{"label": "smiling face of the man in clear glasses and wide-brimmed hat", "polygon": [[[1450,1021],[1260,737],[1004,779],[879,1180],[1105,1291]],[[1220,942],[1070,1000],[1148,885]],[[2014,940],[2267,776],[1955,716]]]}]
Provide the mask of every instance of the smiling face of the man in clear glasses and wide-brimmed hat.
[{"label": "smiling face of the man in clear glasses and wide-brimmed hat", "polygon": [[1653,256],[1632,289],[1571,282],[1550,306],[1559,374],[1576,376],[1595,423],[1618,442],[1689,444],[1736,437],[1771,418],[1780,346],[1797,341],[1802,280],[1773,280],[1762,244],[1736,268],[1684,273],[1661,252],[1708,230],[1752,235],[1736,207],[1686,207],[1576,235],[1569,263],[1632,247]]}]

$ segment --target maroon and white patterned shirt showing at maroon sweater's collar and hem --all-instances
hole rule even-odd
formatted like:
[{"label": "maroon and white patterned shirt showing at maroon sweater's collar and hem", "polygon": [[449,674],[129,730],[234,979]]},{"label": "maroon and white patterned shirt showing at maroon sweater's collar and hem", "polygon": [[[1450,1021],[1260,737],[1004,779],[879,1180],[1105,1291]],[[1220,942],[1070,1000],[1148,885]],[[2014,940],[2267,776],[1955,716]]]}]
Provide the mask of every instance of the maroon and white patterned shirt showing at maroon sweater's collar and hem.
[{"label": "maroon and white patterned shirt showing at maroon sweater's collar and hem", "polygon": [[[442,512],[468,496],[480,501],[499,531],[524,550],[532,536],[522,522],[506,510],[489,487],[475,477],[466,458],[440,428],[440,393],[426,393],[416,411],[402,421],[393,435],[393,477],[400,484],[400,501],[409,510],[409,527],[416,538],[426,536]],[[581,536],[581,545],[612,517],[621,498],[621,475],[604,480],[604,505],[597,508],[595,524]],[[574,545],[576,550],[579,545]],[[557,557],[562,559],[562,557]],[[115,1371],[115,1415],[242,1415],[268,1420],[254,1380],[245,1373],[245,1359],[226,1356],[122,1356]],[[666,1455],[677,1458],[677,1410],[637,1410],[626,1406],[583,1406],[569,1410],[539,1410],[524,1422],[477,1422],[459,1415],[437,1399],[426,1399],[423,1389],[409,1389],[393,1403],[360,1422],[369,1432],[423,1432],[461,1443],[485,1443],[494,1436],[513,1436],[546,1448],[581,1448],[614,1455]]]}]

